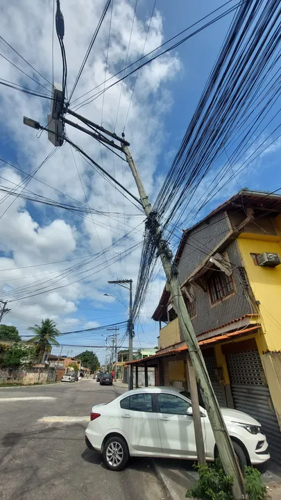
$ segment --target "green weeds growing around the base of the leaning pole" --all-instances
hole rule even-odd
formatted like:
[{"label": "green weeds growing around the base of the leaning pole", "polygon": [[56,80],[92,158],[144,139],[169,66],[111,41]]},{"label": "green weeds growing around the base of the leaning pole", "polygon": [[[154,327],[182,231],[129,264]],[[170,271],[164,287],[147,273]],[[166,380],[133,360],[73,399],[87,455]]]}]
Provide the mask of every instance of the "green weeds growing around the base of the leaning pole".
[{"label": "green weeds growing around the base of the leaning pole", "polygon": [[[199,480],[187,491],[187,497],[197,497],[201,500],[232,500],[233,479],[226,476],[221,460],[216,459],[214,464],[196,465],[194,469],[199,472]],[[266,487],[262,484],[261,474],[253,467],[244,469],[246,492],[249,500],[265,500]]]}]

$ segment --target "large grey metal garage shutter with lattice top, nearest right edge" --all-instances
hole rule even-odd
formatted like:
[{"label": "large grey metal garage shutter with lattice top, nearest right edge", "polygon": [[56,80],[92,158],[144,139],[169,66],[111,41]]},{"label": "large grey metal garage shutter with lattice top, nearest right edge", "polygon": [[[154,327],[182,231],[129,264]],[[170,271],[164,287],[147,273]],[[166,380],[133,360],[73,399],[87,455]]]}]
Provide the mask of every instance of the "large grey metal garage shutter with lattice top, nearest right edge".
[{"label": "large grey metal garage shutter with lattice top, nearest right edge", "polygon": [[244,411],[262,424],[269,442],[271,458],[281,463],[281,433],[273,409],[258,351],[226,355],[232,397],[237,410]]}]

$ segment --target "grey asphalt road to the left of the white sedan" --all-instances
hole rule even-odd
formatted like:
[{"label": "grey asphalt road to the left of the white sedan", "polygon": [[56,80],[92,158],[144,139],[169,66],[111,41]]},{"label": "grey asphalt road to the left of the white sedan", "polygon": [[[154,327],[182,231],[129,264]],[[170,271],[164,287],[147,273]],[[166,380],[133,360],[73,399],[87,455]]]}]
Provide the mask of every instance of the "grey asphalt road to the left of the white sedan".
[{"label": "grey asphalt road to the left of the white sedan", "polygon": [[0,500],[164,499],[149,460],[111,472],[85,446],[90,409],[121,392],[92,380],[1,388]]}]

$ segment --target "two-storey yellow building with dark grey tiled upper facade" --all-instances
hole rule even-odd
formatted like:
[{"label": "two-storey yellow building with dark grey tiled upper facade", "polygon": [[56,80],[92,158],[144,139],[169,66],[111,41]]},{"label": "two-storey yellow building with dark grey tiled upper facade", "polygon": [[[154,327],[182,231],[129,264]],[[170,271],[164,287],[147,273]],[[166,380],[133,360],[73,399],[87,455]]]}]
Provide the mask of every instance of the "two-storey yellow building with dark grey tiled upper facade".
[{"label": "two-storey yellow building with dark grey tiled upper facade", "polygon": [[[281,449],[281,196],[242,190],[182,235],[175,257],[221,406],[253,415]],[[153,313],[160,385],[188,388],[187,347],[166,287]],[[136,362],[135,362],[136,365]]]}]

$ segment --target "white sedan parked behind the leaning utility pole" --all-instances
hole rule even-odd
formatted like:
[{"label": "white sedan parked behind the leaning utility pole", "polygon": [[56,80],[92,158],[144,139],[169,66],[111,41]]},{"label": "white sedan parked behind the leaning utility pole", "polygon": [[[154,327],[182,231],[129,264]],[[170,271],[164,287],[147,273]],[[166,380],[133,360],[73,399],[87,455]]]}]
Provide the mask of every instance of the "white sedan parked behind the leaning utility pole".
[{"label": "white sedan parked behind the leaning utility pole", "polygon": [[[266,437],[257,420],[244,412],[221,408],[239,465],[269,460]],[[207,460],[216,457],[214,434],[201,407]],[[196,460],[191,401],[172,387],[145,387],[125,392],[110,403],[93,406],[86,444],[103,455],[108,469],[124,469],[129,456]]]}]

